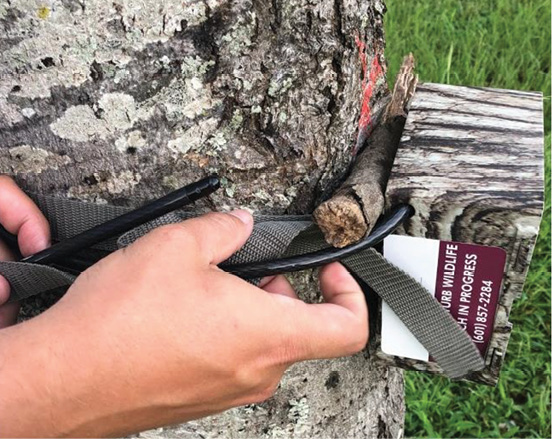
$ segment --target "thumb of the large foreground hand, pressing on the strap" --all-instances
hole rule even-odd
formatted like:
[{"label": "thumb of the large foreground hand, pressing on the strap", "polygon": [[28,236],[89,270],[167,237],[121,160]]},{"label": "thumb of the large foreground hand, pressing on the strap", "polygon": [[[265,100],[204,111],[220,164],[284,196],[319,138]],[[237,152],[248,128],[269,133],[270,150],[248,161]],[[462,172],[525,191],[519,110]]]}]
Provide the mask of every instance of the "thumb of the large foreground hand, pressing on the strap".
[{"label": "thumb of the large foreground hand, pressing on the strap", "polygon": [[247,241],[253,230],[253,217],[246,210],[209,213],[182,223],[199,244],[200,255],[210,264],[219,264]]}]

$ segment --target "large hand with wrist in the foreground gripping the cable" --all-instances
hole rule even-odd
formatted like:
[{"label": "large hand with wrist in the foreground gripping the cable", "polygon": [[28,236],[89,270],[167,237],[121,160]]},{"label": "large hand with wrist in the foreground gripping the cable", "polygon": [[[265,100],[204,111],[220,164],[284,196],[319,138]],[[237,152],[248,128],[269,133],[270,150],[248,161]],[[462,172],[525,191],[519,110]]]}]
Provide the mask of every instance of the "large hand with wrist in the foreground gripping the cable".
[{"label": "large hand with wrist in the foreground gripping the cable", "polygon": [[0,394],[4,433],[120,436],[184,422],[268,398],[297,361],[361,350],[366,303],[340,264],[321,270],[322,304],[299,300],[283,276],[257,288],[217,267],[252,227],[236,211],[158,228],[2,331],[0,386],[12,374],[24,383]]}]

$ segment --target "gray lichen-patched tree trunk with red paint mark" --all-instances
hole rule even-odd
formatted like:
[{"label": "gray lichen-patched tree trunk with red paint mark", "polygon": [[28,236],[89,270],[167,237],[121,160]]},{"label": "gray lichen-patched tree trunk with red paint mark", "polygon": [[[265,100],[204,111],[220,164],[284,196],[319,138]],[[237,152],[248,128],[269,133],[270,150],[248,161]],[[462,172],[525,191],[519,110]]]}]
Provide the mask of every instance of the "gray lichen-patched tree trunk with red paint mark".
[{"label": "gray lichen-patched tree trunk with red paint mark", "polygon": [[[0,172],[32,192],[120,205],[218,172],[224,187],[201,210],[311,212],[377,119],[384,10],[381,0],[3,1]],[[312,273],[293,280],[319,300]],[[265,403],[142,435],[397,437],[403,414],[401,372],[367,350],[294,366]]]}]

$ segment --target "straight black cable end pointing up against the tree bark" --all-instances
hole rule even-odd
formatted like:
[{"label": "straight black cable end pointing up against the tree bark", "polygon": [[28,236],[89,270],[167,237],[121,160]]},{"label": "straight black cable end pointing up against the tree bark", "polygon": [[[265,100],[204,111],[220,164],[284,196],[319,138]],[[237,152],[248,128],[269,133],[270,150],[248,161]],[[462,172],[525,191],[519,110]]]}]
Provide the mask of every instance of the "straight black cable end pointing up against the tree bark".
[{"label": "straight black cable end pointing up against the tree bark", "polygon": [[220,187],[216,175],[189,184],[145,206],[99,224],[72,238],[58,242],[53,246],[24,258],[21,262],[47,265],[69,256],[79,250],[98,244],[106,239],[125,233],[134,227],[147,223],[175,209],[181,208],[203,198]]}]

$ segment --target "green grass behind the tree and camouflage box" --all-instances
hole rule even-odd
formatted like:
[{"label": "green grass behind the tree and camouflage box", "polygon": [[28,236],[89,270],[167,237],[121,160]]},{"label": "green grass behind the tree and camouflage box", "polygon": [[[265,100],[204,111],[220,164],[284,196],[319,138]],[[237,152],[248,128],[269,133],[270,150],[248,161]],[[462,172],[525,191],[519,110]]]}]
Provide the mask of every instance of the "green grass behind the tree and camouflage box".
[{"label": "green grass behind the tree and camouflage box", "polygon": [[406,373],[408,437],[551,437],[550,0],[387,0],[389,77],[412,52],[421,81],[538,90],[546,207],[496,388]]}]

